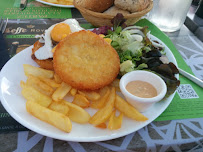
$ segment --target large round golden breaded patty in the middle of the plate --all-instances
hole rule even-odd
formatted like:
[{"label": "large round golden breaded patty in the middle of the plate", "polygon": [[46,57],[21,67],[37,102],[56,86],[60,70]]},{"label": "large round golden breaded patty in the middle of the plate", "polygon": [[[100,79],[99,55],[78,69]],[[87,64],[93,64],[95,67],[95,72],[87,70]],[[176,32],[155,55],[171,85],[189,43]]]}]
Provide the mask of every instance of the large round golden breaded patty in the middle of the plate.
[{"label": "large round golden breaded patty in the middle of the plate", "polygon": [[118,75],[120,59],[115,49],[91,31],[70,34],[56,47],[54,70],[79,90],[96,90]]}]

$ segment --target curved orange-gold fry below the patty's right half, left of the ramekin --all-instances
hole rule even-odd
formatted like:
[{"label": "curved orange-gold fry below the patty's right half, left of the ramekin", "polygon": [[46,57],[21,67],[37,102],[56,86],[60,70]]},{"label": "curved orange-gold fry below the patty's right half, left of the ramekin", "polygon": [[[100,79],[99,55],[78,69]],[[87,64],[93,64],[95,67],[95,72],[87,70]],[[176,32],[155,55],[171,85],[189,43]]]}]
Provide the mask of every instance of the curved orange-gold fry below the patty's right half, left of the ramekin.
[{"label": "curved orange-gold fry below the patty's right half, left of the ramekin", "polygon": [[104,91],[105,91],[105,94],[103,96],[101,96],[101,98],[99,100],[92,101],[90,104],[91,108],[101,109],[105,105],[105,102],[107,101],[109,94],[110,94],[110,89],[108,87],[106,87],[105,90],[104,89],[102,89],[102,90],[103,90],[103,92],[101,92],[101,94],[104,94]]}]

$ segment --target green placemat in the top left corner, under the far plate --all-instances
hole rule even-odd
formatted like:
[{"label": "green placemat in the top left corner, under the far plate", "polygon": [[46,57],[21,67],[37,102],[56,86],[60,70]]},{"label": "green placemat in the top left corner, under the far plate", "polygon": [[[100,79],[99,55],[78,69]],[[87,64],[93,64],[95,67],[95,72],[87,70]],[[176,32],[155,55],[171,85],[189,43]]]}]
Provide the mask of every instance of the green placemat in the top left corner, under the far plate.
[{"label": "green placemat in the top left corner, under the far plate", "polygon": [[51,7],[35,0],[28,0],[27,7],[21,11],[20,0],[1,0],[0,17],[9,19],[72,18],[70,8]]}]

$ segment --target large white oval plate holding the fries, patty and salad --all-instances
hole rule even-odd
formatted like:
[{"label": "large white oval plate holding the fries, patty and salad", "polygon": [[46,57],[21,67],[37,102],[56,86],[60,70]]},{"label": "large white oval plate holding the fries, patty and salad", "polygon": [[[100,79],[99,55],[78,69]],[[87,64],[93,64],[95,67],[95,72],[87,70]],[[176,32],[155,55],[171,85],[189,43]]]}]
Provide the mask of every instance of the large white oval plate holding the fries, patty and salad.
[{"label": "large white oval plate holding the fries, patty and salad", "polygon": [[[152,38],[162,43],[156,37],[152,36]],[[177,66],[173,54],[166,45],[164,46],[169,61]],[[15,120],[30,130],[44,136],[75,142],[95,142],[122,137],[143,128],[156,119],[168,107],[175,94],[173,93],[164,101],[162,100],[161,102],[156,103],[147,112],[144,112],[143,114],[149,119],[145,122],[138,122],[124,117],[122,127],[119,130],[113,131],[99,129],[90,124],[77,124],[73,122],[72,131],[70,133],[65,133],[43,121],[40,121],[26,111],[26,100],[21,95],[20,81],[26,81],[23,64],[37,66],[37,64],[31,59],[31,49],[32,46],[18,53],[2,68],[0,73],[0,99],[4,108]],[[176,77],[178,78],[179,75],[176,75]],[[69,98],[68,100],[71,101],[72,99]],[[90,115],[95,113],[94,109],[88,109],[87,111]]]}]

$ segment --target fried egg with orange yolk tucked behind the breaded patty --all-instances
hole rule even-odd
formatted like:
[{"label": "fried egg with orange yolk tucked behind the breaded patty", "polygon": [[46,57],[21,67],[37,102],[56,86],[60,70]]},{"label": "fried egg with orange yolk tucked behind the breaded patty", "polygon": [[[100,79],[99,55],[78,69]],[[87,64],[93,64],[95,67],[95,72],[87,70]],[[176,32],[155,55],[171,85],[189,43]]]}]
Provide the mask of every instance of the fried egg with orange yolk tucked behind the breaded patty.
[{"label": "fried egg with orange yolk tucked behind the breaded patty", "polygon": [[53,58],[53,41],[58,43],[69,34],[80,30],[84,29],[80,27],[78,21],[75,19],[67,19],[63,22],[52,25],[45,31],[45,35],[43,36],[45,44],[35,52],[35,57],[39,60]]}]

